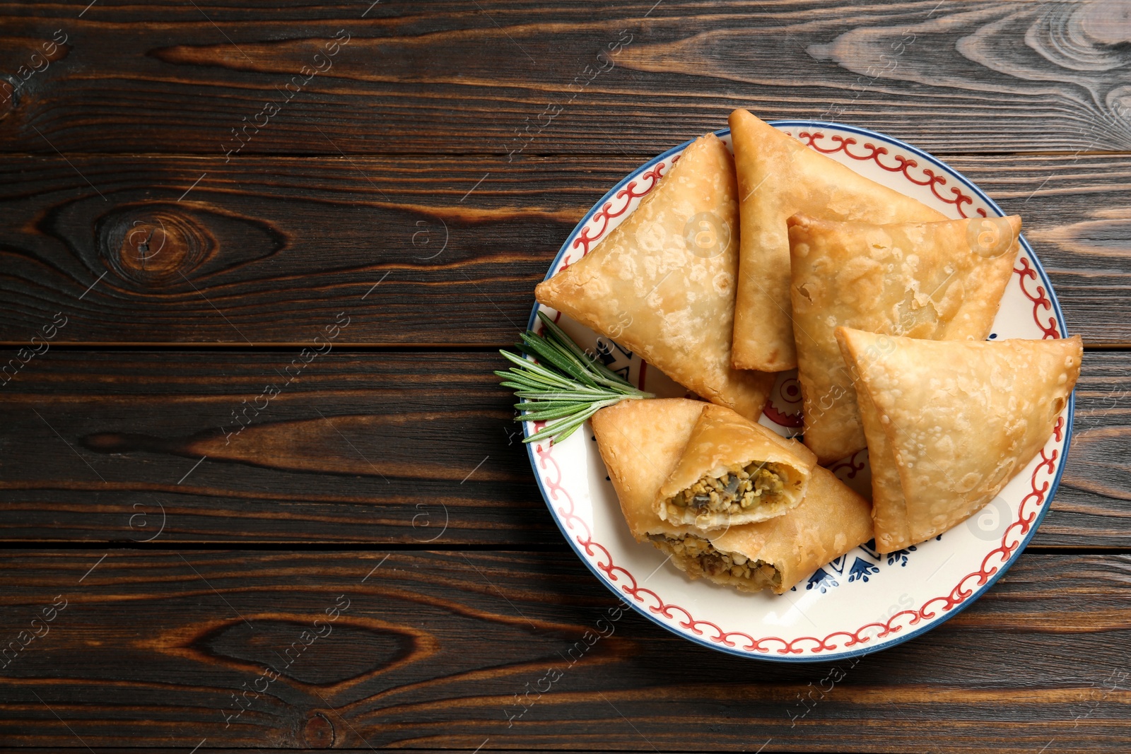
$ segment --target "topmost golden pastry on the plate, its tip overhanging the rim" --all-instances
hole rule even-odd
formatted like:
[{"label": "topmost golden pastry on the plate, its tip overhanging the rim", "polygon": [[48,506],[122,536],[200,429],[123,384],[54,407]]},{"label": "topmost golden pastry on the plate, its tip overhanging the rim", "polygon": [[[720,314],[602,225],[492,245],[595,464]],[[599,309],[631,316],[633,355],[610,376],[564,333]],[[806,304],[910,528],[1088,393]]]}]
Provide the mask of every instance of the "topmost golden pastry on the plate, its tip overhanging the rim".
[{"label": "topmost golden pastry on the plate, its tip overhanging the rim", "polygon": [[947,218],[745,110],[731,113],[729,121],[742,226],[732,358],[739,369],[783,372],[797,365],[789,303],[789,216],[805,213],[869,223]]}]

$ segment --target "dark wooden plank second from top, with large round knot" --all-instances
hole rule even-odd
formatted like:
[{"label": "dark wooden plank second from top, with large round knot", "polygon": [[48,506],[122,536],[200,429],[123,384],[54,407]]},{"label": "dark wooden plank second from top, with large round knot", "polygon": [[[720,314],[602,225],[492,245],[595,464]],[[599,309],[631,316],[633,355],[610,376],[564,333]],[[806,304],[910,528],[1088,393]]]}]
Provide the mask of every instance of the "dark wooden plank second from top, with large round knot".
[{"label": "dark wooden plank second from top, with large round knot", "polygon": [[[345,312],[348,343],[509,344],[569,231],[644,157],[69,162],[0,165],[0,341],[59,313],[55,343],[310,344]],[[1131,157],[953,162],[1022,215],[1070,329],[1131,341]]]}]

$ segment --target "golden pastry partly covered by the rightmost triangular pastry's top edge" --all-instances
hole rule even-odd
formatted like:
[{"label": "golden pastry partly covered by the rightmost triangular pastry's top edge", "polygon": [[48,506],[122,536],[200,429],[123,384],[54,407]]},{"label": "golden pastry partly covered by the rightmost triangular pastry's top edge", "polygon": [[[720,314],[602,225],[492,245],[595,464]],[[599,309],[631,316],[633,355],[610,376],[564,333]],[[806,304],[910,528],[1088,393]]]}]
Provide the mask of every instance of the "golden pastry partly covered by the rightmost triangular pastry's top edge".
[{"label": "golden pastry partly covered by the rightmost triangular pastry's top edge", "polygon": [[838,326],[931,340],[984,340],[1017,259],[1021,218],[872,225],[788,220],[805,444],[821,463],[865,445]]}]

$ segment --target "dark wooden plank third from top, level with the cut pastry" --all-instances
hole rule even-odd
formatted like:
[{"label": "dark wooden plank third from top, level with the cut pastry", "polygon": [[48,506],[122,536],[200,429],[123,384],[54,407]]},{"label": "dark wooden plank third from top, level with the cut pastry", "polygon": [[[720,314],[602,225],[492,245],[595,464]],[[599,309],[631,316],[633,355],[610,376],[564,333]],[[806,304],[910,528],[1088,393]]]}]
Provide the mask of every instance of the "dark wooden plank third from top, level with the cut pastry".
[{"label": "dark wooden plank third from top, level with the cut pastry", "polygon": [[[501,357],[338,349],[284,385],[297,353],[28,362],[0,389],[0,539],[564,549],[491,373]],[[1068,470],[1033,547],[1131,549],[1129,373],[1131,353],[1087,354]],[[266,383],[280,388],[269,401]],[[265,404],[235,434],[233,411]]]}]

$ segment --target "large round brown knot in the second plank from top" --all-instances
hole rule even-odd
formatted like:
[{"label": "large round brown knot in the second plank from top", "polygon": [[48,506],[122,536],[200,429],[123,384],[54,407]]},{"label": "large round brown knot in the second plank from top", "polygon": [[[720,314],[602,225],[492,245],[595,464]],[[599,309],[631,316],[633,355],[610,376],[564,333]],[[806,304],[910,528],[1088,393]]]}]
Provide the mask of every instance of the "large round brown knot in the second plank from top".
[{"label": "large round brown knot in the second plank from top", "polygon": [[193,270],[213,249],[213,236],[179,209],[127,209],[102,223],[98,245],[106,265],[127,280],[162,286]]}]

